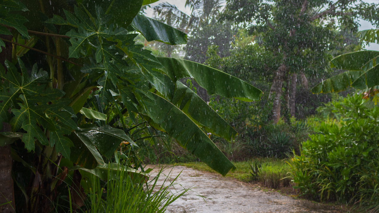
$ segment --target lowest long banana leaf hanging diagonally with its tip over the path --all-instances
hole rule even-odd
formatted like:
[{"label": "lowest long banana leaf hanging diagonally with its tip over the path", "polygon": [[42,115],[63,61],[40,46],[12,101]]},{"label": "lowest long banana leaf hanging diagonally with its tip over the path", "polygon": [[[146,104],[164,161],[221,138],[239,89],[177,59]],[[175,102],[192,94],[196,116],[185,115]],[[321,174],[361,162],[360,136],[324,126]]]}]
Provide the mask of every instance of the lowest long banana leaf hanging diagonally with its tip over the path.
[{"label": "lowest long banana leaf hanging diagonally with its tip over the path", "polygon": [[185,113],[168,100],[156,94],[153,94],[153,97],[155,103],[146,102],[151,119],[175,138],[180,146],[222,175],[226,175],[230,169],[235,169],[232,162]]}]

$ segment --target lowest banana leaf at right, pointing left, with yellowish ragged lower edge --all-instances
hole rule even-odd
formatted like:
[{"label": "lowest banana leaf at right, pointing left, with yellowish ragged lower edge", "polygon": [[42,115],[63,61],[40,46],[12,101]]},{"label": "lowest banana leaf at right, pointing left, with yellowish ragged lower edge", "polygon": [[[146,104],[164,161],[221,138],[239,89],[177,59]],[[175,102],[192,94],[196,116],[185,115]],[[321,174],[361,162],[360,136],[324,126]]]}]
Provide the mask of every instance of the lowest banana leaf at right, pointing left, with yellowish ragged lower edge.
[{"label": "lowest banana leaf at right, pointing left, with yellowish ragged lower edge", "polygon": [[[327,93],[327,92],[341,92],[345,91],[352,82],[356,81],[362,71],[347,71],[341,74],[335,75],[331,78],[321,81],[318,85],[311,89],[311,92],[314,94],[318,93]],[[357,81],[358,84],[358,81]],[[361,81],[360,86],[365,86],[365,82]]]}]

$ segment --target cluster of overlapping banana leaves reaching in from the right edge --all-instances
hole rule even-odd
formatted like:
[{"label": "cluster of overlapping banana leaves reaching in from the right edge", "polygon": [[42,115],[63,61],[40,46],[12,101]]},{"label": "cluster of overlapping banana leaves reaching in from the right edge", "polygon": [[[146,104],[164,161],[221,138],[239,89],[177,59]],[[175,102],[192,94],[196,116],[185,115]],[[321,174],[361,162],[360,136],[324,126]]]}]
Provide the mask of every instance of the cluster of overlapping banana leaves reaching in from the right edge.
[{"label": "cluster of overlapping banana leaves reaching in from the right edge", "polygon": [[321,81],[312,88],[313,93],[340,92],[349,86],[366,89],[379,85],[379,51],[365,50],[346,53],[330,61],[331,67],[349,70]]}]

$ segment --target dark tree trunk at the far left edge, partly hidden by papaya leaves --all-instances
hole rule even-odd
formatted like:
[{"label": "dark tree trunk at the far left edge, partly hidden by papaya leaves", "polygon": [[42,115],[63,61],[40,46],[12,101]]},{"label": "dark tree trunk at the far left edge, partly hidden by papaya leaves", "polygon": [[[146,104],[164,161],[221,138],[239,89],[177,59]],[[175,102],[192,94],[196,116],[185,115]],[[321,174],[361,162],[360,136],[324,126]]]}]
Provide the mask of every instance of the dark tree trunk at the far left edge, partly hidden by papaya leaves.
[{"label": "dark tree trunk at the far left edge, partly hidden by papaya leaves", "polygon": [[[0,38],[12,40],[11,35],[0,35]],[[6,42],[5,48],[0,53],[0,63],[4,66],[5,59],[12,60],[12,44]],[[4,66],[5,67],[5,66]],[[5,68],[6,69],[6,68]],[[3,129],[0,132],[10,132],[11,125],[3,122]],[[0,212],[14,213],[14,190],[12,179],[12,158],[11,146],[0,147],[0,204],[11,202],[10,204],[1,205]]]}]

